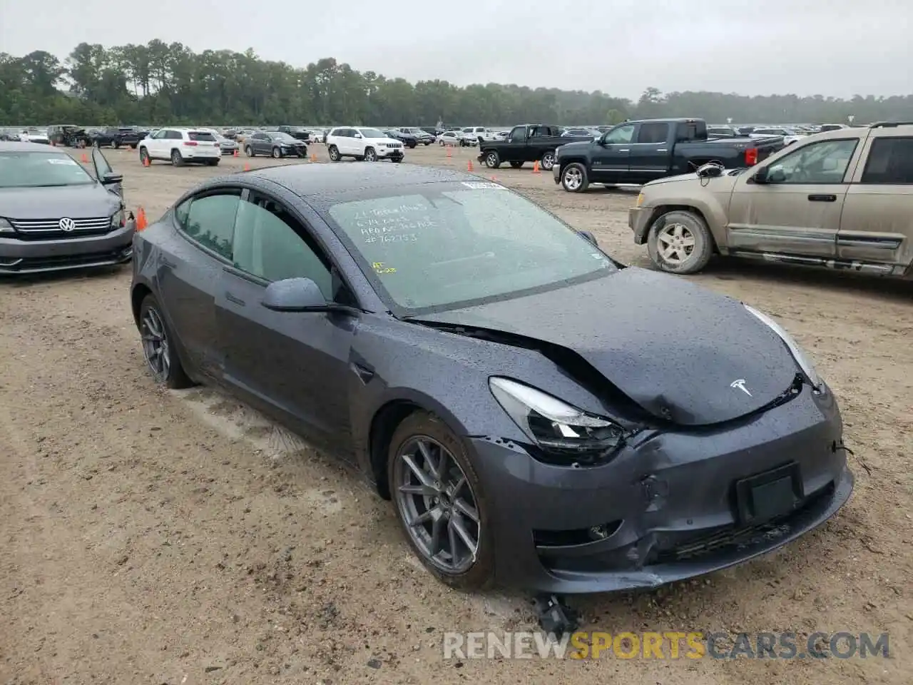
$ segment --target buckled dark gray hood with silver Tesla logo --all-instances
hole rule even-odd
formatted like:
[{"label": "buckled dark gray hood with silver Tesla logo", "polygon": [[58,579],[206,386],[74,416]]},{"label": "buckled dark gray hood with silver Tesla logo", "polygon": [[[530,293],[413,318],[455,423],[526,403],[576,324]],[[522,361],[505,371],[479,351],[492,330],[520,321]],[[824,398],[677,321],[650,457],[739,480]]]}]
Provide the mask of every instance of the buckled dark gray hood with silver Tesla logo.
[{"label": "buckled dark gray hood with silver Tesla logo", "polygon": [[650,414],[685,426],[761,409],[799,373],[738,300],[646,269],[415,319],[560,345]]}]

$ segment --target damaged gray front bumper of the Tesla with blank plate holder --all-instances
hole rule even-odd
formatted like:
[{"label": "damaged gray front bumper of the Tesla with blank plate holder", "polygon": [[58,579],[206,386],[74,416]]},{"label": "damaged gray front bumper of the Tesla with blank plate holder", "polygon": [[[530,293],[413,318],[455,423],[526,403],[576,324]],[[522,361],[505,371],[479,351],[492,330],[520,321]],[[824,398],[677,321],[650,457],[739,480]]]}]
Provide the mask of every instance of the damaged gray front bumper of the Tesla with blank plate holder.
[{"label": "damaged gray front bumper of the Tesla with blank plate holder", "polygon": [[468,438],[498,583],[562,594],[656,587],[768,553],[849,499],[842,429],[830,391],[806,387],[737,427],[645,432],[592,468]]}]

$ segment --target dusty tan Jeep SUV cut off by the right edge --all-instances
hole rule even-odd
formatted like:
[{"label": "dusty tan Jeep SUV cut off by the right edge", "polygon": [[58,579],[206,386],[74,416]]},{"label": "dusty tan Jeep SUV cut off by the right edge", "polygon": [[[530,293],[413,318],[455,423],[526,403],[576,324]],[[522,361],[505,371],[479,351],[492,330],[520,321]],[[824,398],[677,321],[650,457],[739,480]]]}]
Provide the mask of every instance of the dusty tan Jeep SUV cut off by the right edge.
[{"label": "dusty tan Jeep SUV cut off by the right edge", "polygon": [[750,169],[656,180],[628,225],[673,273],[717,253],[913,278],[913,122],[819,133]]}]

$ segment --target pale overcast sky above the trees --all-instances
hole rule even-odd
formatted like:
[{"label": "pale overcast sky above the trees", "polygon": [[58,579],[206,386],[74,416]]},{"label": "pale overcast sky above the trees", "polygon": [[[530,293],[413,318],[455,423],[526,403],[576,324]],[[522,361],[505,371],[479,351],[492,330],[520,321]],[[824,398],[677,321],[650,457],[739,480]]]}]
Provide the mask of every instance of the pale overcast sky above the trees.
[{"label": "pale overcast sky above the trees", "polygon": [[461,86],[905,95],[911,16],[913,0],[0,0],[0,52],[158,37]]}]

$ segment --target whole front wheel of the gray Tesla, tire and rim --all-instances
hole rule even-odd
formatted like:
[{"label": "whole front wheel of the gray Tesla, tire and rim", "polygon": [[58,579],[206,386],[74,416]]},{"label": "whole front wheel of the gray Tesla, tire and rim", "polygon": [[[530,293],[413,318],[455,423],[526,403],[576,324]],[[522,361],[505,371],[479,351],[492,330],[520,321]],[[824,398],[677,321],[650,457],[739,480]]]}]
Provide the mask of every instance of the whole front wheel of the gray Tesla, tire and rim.
[{"label": "whole front wheel of the gray Tesla, tire and rim", "polygon": [[415,412],[394,431],[387,477],[406,542],[438,580],[461,590],[494,581],[488,506],[472,459],[437,416]]}]

